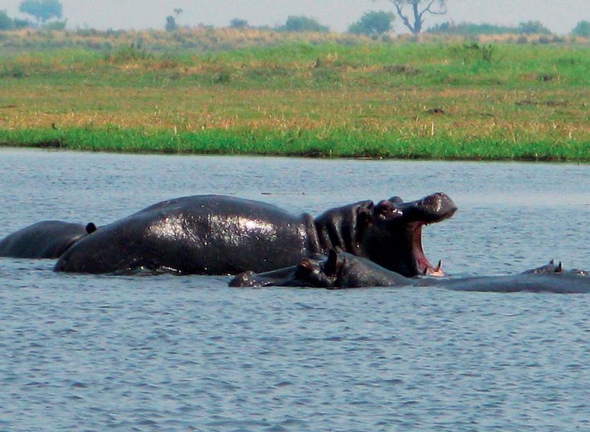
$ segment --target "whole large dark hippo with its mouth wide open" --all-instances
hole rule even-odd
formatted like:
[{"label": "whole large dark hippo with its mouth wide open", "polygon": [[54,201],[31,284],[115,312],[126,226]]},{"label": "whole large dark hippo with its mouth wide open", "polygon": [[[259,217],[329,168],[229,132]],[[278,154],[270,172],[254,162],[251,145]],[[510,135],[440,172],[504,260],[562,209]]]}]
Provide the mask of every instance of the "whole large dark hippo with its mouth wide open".
[{"label": "whole large dark hippo with its mouth wide open", "polygon": [[317,218],[264,202],[228,196],[187,196],[159,202],[76,242],[54,270],[134,270],[223,275],[287,267],[336,248],[403,275],[432,273],[422,226],[453,216],[444,193],[403,202],[394,197],[330,209]]}]

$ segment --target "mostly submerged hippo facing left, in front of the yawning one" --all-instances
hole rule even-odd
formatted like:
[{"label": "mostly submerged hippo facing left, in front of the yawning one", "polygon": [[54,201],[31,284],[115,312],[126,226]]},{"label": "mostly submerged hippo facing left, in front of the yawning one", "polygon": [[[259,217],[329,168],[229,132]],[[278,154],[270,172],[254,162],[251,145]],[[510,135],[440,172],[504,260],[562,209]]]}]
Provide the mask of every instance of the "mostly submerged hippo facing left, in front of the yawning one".
[{"label": "mostly submerged hippo facing left, in front of the yawning one", "polygon": [[229,286],[301,286],[328,289],[379,286],[439,286],[453,291],[519,291],[590,293],[590,277],[584,270],[564,270],[550,261],[546,266],[517,275],[475,276],[457,279],[409,278],[346,252],[330,250],[328,256],[301,259],[296,266],[267,273],[246,271],[230,280]]}]

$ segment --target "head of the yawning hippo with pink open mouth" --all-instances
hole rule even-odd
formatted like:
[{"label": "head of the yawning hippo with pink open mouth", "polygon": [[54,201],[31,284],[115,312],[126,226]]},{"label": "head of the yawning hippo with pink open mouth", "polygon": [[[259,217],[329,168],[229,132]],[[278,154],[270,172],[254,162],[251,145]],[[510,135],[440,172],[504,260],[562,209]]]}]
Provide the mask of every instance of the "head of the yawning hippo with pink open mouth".
[{"label": "head of the yawning hippo with pink open mouth", "polygon": [[457,206],[446,194],[433,193],[404,202],[398,196],[382,200],[357,214],[357,255],[406,277],[442,276],[422,250],[422,227],[450,218]]}]

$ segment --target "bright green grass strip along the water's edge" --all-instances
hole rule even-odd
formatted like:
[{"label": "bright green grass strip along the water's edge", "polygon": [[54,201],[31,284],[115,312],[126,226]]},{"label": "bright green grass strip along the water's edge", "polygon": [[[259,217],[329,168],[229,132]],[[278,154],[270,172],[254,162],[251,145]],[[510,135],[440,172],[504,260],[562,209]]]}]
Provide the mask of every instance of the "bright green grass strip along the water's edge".
[{"label": "bright green grass strip along the water's edge", "polygon": [[156,155],[228,155],[321,159],[401,159],[482,162],[590,162],[590,143],[570,140],[510,143],[494,139],[463,142],[450,137],[407,139],[388,133],[345,130],[203,132],[133,129],[0,129],[0,146]]}]

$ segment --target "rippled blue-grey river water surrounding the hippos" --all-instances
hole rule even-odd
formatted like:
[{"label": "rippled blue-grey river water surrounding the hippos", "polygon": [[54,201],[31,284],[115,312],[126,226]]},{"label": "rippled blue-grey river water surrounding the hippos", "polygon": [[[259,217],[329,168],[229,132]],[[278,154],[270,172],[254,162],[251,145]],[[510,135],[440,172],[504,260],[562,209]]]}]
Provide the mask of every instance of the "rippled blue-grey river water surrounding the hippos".
[{"label": "rippled blue-grey river water surrounding the hippos", "polygon": [[[457,276],[590,268],[590,167],[0,149],[0,237],[221,193],[294,212],[444,191]],[[0,259],[0,431],[587,431],[590,295],[235,289]]]}]

